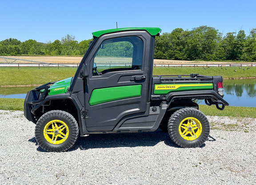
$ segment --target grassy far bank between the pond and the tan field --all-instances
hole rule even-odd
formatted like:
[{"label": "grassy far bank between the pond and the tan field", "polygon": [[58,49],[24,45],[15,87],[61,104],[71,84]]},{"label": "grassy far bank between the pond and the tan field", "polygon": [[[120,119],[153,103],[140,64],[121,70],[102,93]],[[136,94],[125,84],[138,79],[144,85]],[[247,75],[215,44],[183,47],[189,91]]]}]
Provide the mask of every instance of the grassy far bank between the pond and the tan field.
[{"label": "grassy far bank between the pond and the tan field", "polygon": [[[236,69],[236,72],[234,70]],[[243,70],[245,69],[245,70]],[[1,67],[0,68],[0,86],[1,85],[39,85],[50,81],[58,81],[74,76],[76,68],[72,67]],[[211,67],[204,69],[203,67],[156,67],[153,69],[153,75],[171,75],[171,74],[190,74],[199,73],[202,75],[222,76],[228,78],[246,78],[256,77],[256,67],[249,69],[243,67],[228,67],[221,69],[220,67]]]}]

